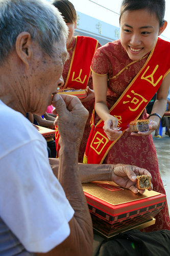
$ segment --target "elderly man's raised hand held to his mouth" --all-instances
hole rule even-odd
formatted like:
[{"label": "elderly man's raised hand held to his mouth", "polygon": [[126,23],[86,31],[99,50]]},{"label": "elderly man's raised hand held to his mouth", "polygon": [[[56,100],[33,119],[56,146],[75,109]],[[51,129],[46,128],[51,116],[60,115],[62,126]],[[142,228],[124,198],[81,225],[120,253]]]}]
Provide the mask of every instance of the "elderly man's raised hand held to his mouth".
[{"label": "elderly man's raised hand held to his mouth", "polygon": [[66,94],[55,94],[53,106],[55,107],[53,114],[58,114],[54,124],[58,125],[61,140],[79,146],[89,115],[88,111],[78,97]]}]

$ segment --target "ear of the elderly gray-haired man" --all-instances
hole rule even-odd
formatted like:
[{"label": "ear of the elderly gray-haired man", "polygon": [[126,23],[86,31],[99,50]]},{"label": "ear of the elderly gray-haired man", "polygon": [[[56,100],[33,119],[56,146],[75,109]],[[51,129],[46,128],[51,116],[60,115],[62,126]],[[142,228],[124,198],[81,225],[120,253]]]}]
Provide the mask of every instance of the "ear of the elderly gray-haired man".
[{"label": "ear of the elderly gray-haired man", "polygon": [[15,43],[15,49],[20,60],[25,63],[26,69],[29,69],[30,61],[33,55],[33,45],[31,35],[28,32],[21,32]]}]

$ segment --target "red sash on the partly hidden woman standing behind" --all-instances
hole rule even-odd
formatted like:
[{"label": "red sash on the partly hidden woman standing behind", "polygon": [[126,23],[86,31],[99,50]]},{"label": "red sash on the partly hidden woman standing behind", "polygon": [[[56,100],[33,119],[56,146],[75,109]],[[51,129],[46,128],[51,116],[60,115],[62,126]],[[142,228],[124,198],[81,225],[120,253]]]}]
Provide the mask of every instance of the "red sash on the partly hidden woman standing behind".
[{"label": "red sash on the partly hidden woman standing behind", "polygon": [[[90,65],[93,55],[98,47],[98,40],[87,36],[76,36],[76,44],[71,57],[65,88],[86,89],[90,77]],[[58,127],[56,126],[56,151],[59,153],[60,145]]]}]

